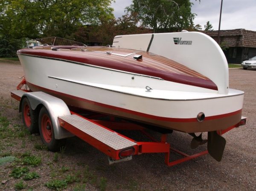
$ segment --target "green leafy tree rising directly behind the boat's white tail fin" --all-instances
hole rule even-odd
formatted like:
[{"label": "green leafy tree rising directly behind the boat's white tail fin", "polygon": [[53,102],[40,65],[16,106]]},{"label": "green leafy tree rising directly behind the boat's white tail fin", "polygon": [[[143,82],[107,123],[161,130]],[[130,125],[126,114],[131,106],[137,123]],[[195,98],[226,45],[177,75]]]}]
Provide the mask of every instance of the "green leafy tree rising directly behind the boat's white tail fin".
[{"label": "green leafy tree rising directly behind the boat's white tail fin", "polygon": [[192,26],[195,14],[191,13],[189,0],[133,0],[126,10],[136,13],[144,27],[153,32],[181,31]]}]

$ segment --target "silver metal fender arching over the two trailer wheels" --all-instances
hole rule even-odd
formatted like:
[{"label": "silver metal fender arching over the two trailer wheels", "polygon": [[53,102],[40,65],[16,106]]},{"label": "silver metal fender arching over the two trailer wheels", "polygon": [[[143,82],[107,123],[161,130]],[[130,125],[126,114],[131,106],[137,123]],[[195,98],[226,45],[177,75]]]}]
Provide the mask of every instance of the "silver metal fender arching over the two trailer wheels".
[{"label": "silver metal fender arching over the two trailer wheels", "polygon": [[32,110],[37,111],[37,117],[42,106],[47,108],[47,111],[52,119],[55,139],[64,139],[74,136],[69,131],[62,128],[58,122],[58,116],[70,115],[70,110],[63,100],[42,91],[28,92],[23,94],[20,99],[19,111],[21,111],[21,103],[24,97],[29,99]]}]

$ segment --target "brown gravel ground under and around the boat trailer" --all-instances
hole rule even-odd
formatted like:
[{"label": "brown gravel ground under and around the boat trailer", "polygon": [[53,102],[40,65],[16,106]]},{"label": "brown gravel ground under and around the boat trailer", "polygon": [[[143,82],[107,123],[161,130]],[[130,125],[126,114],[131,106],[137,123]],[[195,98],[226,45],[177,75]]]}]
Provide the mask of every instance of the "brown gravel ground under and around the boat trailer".
[{"label": "brown gravel ground under and around the boat trailer", "polygon": [[[87,143],[73,137],[59,153],[58,161],[53,162],[55,154],[47,150],[35,149],[41,144],[40,136],[26,135],[22,140],[0,140],[0,157],[11,153],[17,157],[26,151],[40,156],[41,165],[30,167],[40,177],[25,181],[24,191],[48,191],[44,184],[52,179],[61,179],[66,174],[84,177],[86,171],[90,180],[82,179],[69,184],[64,190],[107,190],[107,191],[255,191],[256,190],[256,70],[230,69],[230,88],[245,92],[243,116],[247,124],[224,134],[227,140],[221,162],[215,161],[208,154],[174,167],[167,167],[163,154],[143,154],[133,160],[108,165],[107,157]],[[11,121],[11,125],[21,124],[18,102],[10,98],[10,91],[15,90],[23,76],[19,63],[0,63],[0,114]],[[137,135],[135,135],[137,136]],[[191,137],[174,132],[168,142],[175,148],[192,154],[203,151],[201,145],[191,151]],[[6,142],[12,141],[13,144]],[[171,159],[177,159],[172,154]],[[20,165],[16,162],[15,165]],[[21,164],[22,165],[22,164]],[[63,166],[69,169],[60,171]],[[13,164],[0,166],[0,185],[2,191],[15,190],[15,183],[20,179],[9,177]],[[90,173],[88,173],[90,172]],[[79,174],[80,173],[80,174]],[[104,181],[103,181],[104,180]],[[102,185],[105,183],[105,185]],[[84,184],[80,186],[80,184]],[[79,187],[80,186],[80,187]]]}]

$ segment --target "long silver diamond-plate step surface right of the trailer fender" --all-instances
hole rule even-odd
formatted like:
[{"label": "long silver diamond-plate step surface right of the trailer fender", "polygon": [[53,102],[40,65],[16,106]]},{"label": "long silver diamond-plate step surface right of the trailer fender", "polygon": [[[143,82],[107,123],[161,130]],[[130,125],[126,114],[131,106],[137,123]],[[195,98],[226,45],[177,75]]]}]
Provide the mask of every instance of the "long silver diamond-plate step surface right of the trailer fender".
[{"label": "long silver diamond-plate step surface right of the trailer fender", "polygon": [[82,117],[79,117],[76,114],[61,116],[59,118],[115,150],[137,145],[136,143]]}]

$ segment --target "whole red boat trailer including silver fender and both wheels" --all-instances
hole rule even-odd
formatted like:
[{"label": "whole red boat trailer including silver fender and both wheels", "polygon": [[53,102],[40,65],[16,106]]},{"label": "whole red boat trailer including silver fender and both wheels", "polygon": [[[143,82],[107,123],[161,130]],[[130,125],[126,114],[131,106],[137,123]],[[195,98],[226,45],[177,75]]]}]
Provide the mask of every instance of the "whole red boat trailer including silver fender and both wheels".
[{"label": "whole red boat trailer including silver fender and both wheels", "polygon": [[[58,150],[61,144],[64,143],[63,140],[65,138],[75,135],[108,155],[110,164],[131,160],[132,156],[143,153],[165,153],[165,163],[168,166],[173,166],[207,153],[215,160],[221,161],[226,144],[226,140],[221,135],[246,123],[246,117],[242,117],[239,123],[225,130],[208,132],[208,141],[203,140],[201,135],[191,134],[194,137],[191,142],[192,148],[197,148],[198,145],[207,142],[208,150],[189,155],[172,148],[170,143],[167,143],[169,132],[161,134],[160,140],[155,140],[145,131],[144,125],[141,126],[138,123],[131,123],[125,120],[102,120],[102,117],[107,118],[107,116],[95,113],[92,115],[89,111],[86,117],[81,116],[70,111],[67,105],[59,98],[44,92],[29,92],[26,88],[22,89],[24,85],[26,86],[25,79],[17,86],[16,91],[11,92],[11,96],[20,101],[20,112],[22,112],[23,121],[30,122],[25,123],[25,126],[29,128],[30,132],[37,131],[39,126],[41,139],[49,150]],[[26,109],[22,109],[25,108],[24,104]],[[113,119],[113,117],[108,117],[108,119]],[[117,133],[116,130],[118,129],[139,130],[151,142],[132,140]],[[182,155],[183,158],[170,161],[171,151]]]}]

